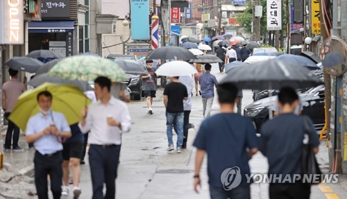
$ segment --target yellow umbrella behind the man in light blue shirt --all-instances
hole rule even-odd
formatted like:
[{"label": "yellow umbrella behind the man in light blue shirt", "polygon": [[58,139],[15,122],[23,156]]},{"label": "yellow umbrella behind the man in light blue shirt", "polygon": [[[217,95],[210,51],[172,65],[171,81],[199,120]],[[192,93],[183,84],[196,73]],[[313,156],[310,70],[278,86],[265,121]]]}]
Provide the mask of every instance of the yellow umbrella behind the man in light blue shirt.
[{"label": "yellow umbrella behind the man in light blue shirt", "polygon": [[40,107],[37,104],[37,94],[42,91],[48,91],[52,94],[52,110],[64,114],[67,123],[70,125],[82,119],[81,110],[91,102],[78,87],[44,83],[19,96],[8,119],[25,131],[26,123],[28,123],[30,117],[40,112]]}]

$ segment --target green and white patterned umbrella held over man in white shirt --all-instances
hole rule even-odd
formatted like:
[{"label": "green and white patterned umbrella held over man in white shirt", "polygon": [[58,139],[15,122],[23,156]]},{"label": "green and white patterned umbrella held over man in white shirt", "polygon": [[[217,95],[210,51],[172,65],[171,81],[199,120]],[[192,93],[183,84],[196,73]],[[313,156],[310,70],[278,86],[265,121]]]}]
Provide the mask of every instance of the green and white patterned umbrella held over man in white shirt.
[{"label": "green and white patterned umbrella held over man in white shirt", "polygon": [[65,58],[49,71],[49,75],[67,80],[94,80],[99,76],[110,78],[112,82],[127,79],[126,73],[112,60],[96,56],[78,55]]}]

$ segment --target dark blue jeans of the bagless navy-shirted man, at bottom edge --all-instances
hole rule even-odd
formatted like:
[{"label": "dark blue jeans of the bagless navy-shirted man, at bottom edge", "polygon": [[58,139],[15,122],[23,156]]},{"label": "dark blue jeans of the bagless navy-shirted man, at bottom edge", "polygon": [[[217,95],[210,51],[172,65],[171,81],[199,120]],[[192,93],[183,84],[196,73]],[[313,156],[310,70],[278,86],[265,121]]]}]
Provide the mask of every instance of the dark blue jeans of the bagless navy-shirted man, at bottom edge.
[{"label": "dark blue jeans of the bagless navy-shirted man, at bottom edge", "polygon": [[251,189],[246,186],[226,191],[223,187],[210,186],[210,196],[211,199],[251,199]]}]

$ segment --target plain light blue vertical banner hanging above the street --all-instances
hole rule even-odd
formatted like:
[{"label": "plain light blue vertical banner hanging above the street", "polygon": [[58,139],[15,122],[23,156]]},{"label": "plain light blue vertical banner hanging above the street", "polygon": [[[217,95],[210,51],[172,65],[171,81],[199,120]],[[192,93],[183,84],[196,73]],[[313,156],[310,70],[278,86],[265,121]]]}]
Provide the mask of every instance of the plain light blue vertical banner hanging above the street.
[{"label": "plain light blue vertical banner hanging above the street", "polygon": [[149,0],[130,0],[131,39],[149,40]]}]

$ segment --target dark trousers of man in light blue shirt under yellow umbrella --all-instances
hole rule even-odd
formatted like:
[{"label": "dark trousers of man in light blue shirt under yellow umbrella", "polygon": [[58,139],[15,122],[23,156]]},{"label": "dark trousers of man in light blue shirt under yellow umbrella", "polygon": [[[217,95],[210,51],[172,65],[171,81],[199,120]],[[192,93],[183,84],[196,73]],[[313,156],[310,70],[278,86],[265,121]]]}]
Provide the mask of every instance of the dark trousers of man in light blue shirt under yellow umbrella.
[{"label": "dark trousers of man in light blue shirt under yellow umbrella", "polygon": [[62,153],[58,152],[51,157],[41,155],[36,151],[35,186],[39,199],[48,199],[47,175],[51,178],[51,191],[54,199],[59,199],[62,194]]}]

